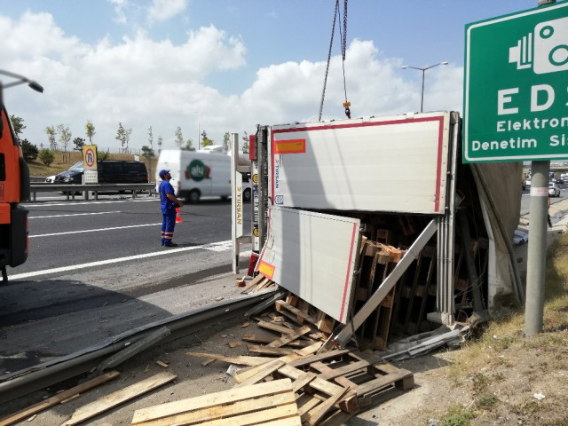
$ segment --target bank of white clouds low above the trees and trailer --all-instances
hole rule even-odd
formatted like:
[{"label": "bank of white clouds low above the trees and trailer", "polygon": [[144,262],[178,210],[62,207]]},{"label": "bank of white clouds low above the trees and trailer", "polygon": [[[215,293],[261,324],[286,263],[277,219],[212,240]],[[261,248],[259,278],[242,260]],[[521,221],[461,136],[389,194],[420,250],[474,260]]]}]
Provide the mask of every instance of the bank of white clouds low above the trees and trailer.
[{"label": "bank of white clouds low above the trees and trailer", "polygon": [[[126,2],[114,4],[125,7]],[[185,138],[196,138],[196,111],[201,130],[216,143],[225,131],[254,133],[259,123],[318,118],[324,61],[260,68],[254,83],[233,95],[208,85],[212,75],[230,80],[246,70],[244,43],[213,25],[189,31],[181,43],[154,40],[141,30],[116,42],[83,43],[65,35],[49,13],[27,12],[19,20],[0,17],[0,37],[3,67],[45,88],[42,95],[24,86],[4,93],[9,113],[25,120],[24,138],[37,146],[47,142],[45,127],[59,123],[69,126],[74,138],[85,138],[88,120],[97,132],[93,142],[106,149],[120,145],[114,139],[118,122],[132,128],[131,147],[146,145],[152,126],[154,141],[162,136],[166,148],[174,146],[177,126]],[[344,67],[352,117],[419,110],[419,79],[403,80],[400,65],[400,59],[382,58],[372,41],[348,46]],[[424,109],[461,107],[461,68],[438,68],[427,75]],[[323,118],[344,118],[343,101],[342,60],[335,56]]]}]

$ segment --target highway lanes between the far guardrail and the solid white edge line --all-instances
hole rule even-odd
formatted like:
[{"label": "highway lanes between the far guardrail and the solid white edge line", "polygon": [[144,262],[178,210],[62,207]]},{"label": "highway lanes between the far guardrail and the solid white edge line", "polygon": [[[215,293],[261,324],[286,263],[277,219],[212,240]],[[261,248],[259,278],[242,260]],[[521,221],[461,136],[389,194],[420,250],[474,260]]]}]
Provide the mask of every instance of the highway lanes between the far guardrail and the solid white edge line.
[{"label": "highway lanes between the far guardrail and the solid white edge line", "polygon": [[[160,245],[162,215],[154,197],[38,202],[26,207],[28,261],[9,268],[10,276],[164,251],[171,251],[172,256],[180,253]],[[174,235],[179,248],[231,239],[230,201],[211,199],[185,205],[180,217],[183,222],[177,224]],[[245,229],[247,226],[246,221]],[[227,262],[231,262],[230,257]]]}]

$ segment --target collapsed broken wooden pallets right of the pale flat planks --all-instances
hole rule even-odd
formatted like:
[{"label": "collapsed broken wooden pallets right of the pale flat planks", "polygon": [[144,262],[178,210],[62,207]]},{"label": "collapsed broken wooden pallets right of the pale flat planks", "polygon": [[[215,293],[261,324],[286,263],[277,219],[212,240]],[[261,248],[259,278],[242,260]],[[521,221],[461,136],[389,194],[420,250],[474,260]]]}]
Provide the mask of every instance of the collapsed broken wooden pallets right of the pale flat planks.
[{"label": "collapsed broken wooden pallets right of the pale flat planks", "polygon": [[296,351],[234,376],[241,383],[237,386],[283,378],[292,381],[304,426],[335,424],[330,419],[339,411],[352,416],[392,398],[392,390],[400,393],[414,387],[411,372],[394,367],[372,351],[349,349],[304,356]]}]

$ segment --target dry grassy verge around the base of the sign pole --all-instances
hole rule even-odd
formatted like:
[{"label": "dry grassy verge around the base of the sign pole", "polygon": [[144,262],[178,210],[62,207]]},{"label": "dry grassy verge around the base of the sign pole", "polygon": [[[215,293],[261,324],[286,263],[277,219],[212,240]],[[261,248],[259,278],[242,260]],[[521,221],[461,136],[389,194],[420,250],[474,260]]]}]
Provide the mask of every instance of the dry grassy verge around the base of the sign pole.
[{"label": "dry grassy verge around the base of the sign pole", "polygon": [[[532,383],[543,383],[542,377],[560,374],[565,370],[565,359],[568,359],[568,234],[560,235],[548,246],[545,282],[542,333],[523,336],[525,306],[519,306],[507,317],[477,327],[460,356],[455,357],[448,367],[447,374],[454,386],[465,384],[469,387],[480,412],[500,415],[497,413],[512,408],[513,413],[527,416],[531,421],[538,419],[538,424],[568,426],[563,407],[565,401],[561,400],[564,398],[551,395],[555,387],[544,388],[547,397],[553,398],[547,401],[548,404],[529,400],[535,391]],[[530,364],[521,367],[516,357],[530,359]],[[524,403],[507,408],[508,403],[497,395],[511,394],[511,388],[506,386],[509,375],[517,377],[517,390],[528,395]],[[466,377],[468,379],[464,379]],[[555,404],[552,404],[553,400]],[[461,405],[452,406],[438,425],[475,424],[476,415],[479,414]]]}]

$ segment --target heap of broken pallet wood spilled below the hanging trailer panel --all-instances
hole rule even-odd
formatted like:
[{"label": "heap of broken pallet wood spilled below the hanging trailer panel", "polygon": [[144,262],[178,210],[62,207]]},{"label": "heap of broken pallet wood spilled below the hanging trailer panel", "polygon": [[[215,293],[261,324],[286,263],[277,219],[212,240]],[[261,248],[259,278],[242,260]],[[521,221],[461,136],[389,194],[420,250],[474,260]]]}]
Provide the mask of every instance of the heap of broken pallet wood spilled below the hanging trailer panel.
[{"label": "heap of broken pallet wood spilled below the hanging trailer panel", "polygon": [[[295,309],[289,309],[289,306],[292,306],[289,302],[296,304]],[[271,339],[256,335],[243,336],[242,340],[245,342],[260,343],[248,344],[247,348],[249,353],[261,355],[263,362],[252,365],[250,359],[255,357],[247,357],[248,367],[239,369],[233,375],[235,390],[244,391],[251,386],[289,379],[301,424],[332,426],[342,424],[351,416],[414,387],[414,375],[411,372],[393,366],[372,351],[335,349],[316,353],[323,344],[322,340],[314,341],[302,349],[298,348],[296,344],[302,342],[301,339],[305,338],[305,335],[314,334],[318,312],[312,314],[311,306],[290,295],[287,302],[277,303],[276,306],[294,316],[301,316],[305,321],[304,325],[289,328],[264,319],[256,319],[257,326],[280,334],[280,337]],[[263,314],[262,317],[273,318],[273,315]],[[321,333],[319,335],[319,338],[323,337]],[[188,353],[193,356],[216,357],[213,354]],[[217,359],[231,362],[231,359],[226,357],[217,356]],[[245,364],[241,361],[241,365]],[[222,409],[228,407],[223,406]],[[170,419],[177,420],[177,417]],[[140,424],[146,426],[146,423]],[[148,426],[150,424],[154,423],[147,423]]]}]

